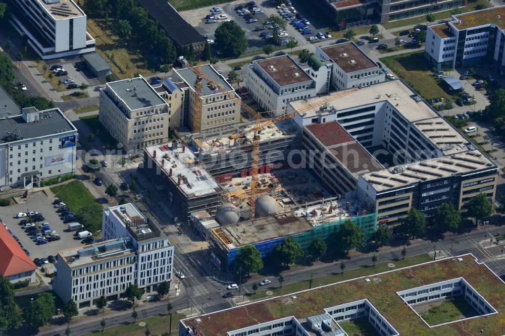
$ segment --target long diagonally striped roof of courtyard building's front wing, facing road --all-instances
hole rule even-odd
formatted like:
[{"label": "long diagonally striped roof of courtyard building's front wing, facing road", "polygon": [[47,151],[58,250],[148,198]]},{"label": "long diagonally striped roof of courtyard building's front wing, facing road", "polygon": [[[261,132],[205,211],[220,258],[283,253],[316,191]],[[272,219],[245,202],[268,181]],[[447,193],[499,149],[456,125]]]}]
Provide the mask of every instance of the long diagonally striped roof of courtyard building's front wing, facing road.
[{"label": "long diagonally striped roof of courtyard building's front wing, facing road", "polygon": [[376,191],[384,191],[411,183],[449,177],[453,174],[464,175],[474,173],[477,170],[497,169],[496,165],[478,150],[432,158],[397,167],[400,168],[397,173],[394,173],[395,167],[391,166],[362,176]]}]

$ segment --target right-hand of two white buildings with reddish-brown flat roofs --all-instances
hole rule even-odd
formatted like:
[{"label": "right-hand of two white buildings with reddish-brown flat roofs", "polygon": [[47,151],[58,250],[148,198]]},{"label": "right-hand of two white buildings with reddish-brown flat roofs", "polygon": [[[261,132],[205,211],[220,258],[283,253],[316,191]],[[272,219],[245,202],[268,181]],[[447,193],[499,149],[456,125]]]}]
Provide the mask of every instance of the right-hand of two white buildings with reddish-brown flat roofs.
[{"label": "right-hand of two white buildings with reddish-brown flat roofs", "polygon": [[[324,69],[325,64],[330,65],[329,82],[336,90],[364,87],[384,82],[385,74],[380,70],[379,65],[372,61],[354,42],[324,47],[316,46],[314,56],[321,61],[321,63],[312,63],[317,65],[318,68],[323,67]],[[311,71],[310,74],[314,78],[315,74],[312,73]],[[322,80],[321,76],[318,76],[317,80]]]}]

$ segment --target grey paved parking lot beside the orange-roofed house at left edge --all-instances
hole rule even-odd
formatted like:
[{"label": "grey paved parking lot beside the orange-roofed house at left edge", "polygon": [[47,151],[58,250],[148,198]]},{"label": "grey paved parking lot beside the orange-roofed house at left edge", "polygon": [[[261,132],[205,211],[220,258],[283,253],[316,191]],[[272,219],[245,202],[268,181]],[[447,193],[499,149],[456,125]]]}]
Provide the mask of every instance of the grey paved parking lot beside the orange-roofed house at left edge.
[{"label": "grey paved parking lot beside the orange-roofed house at left edge", "polygon": [[[58,251],[81,245],[81,240],[74,236],[75,232],[68,232],[68,224],[64,224],[60,219],[56,209],[53,207],[54,199],[48,198],[43,192],[36,192],[28,196],[26,202],[0,208],[0,217],[8,230],[19,239],[23,248],[30,252],[30,258],[46,258],[48,255],[56,256]],[[23,226],[19,224],[23,218],[14,218],[18,212],[37,211],[44,216],[43,222],[48,222],[52,230],[60,235],[61,239],[37,245],[25,232]],[[41,222],[35,222],[37,227]]]}]

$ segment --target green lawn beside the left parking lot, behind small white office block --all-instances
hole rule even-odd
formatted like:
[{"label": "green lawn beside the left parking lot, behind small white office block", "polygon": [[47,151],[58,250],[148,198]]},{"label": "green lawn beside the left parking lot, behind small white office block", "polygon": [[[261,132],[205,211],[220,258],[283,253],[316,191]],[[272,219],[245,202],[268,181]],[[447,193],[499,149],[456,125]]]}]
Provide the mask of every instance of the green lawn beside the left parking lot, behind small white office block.
[{"label": "green lawn beside the left parking lot, behind small white office block", "polygon": [[51,191],[74,212],[77,221],[91,233],[102,230],[102,205],[98,204],[81,181],[55,186]]}]

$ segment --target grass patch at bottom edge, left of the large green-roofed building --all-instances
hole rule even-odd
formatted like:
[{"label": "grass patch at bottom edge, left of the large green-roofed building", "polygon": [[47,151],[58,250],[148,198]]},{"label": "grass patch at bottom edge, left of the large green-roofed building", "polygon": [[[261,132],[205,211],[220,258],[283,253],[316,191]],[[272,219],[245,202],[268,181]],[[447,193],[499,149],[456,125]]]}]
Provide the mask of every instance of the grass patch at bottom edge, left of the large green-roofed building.
[{"label": "grass patch at bottom edge, left of the large green-roofed building", "polygon": [[[178,334],[179,332],[179,320],[185,318],[183,314],[172,313],[172,334]],[[138,323],[142,321],[147,323],[146,326],[142,327]],[[170,315],[158,315],[153,317],[144,318],[142,320],[137,319],[136,323],[133,324],[133,319],[131,323],[121,324],[111,328],[105,329],[101,332],[100,324],[97,323],[97,330],[95,332],[87,333],[84,336],[93,336],[99,334],[100,336],[145,336],[145,330],[149,328],[151,335],[160,335],[164,332],[168,334],[170,324]],[[107,325],[106,325],[107,327]],[[72,328],[72,326],[70,326]]]}]

